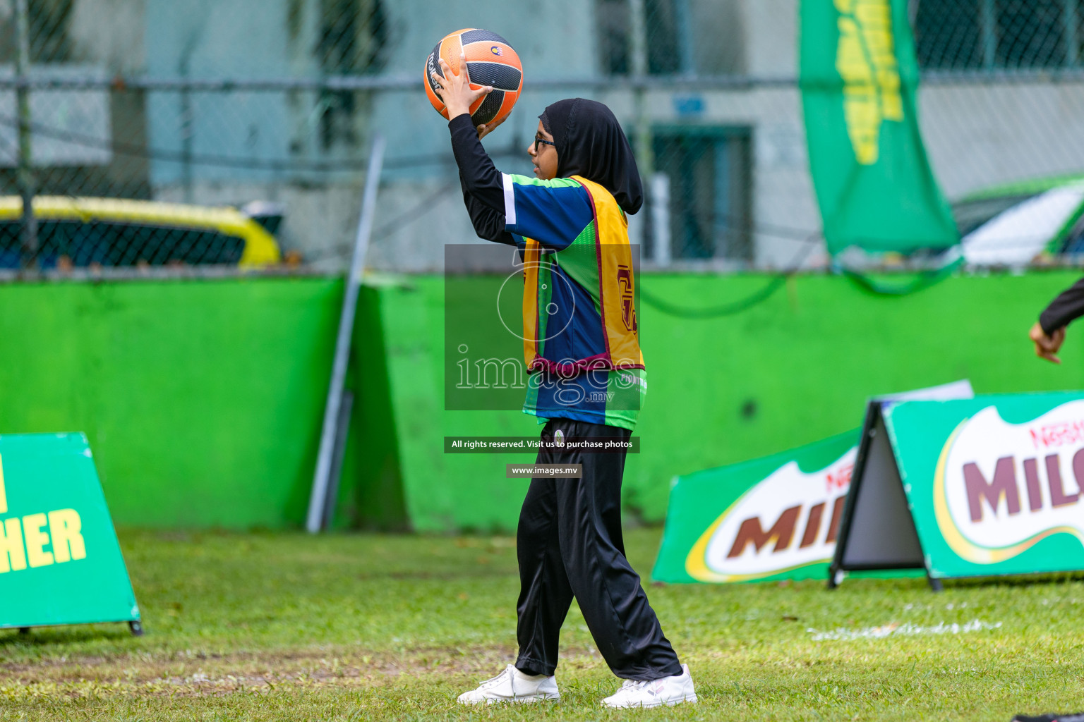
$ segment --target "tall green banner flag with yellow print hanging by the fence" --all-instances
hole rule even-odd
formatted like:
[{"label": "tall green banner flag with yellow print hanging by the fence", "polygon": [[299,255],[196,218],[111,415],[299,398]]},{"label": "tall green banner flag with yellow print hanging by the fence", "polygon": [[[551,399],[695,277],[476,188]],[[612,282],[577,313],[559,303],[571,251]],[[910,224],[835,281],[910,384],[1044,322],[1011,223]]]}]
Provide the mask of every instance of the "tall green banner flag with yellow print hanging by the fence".
[{"label": "tall green banner flag with yellow print hanging by the fence", "polygon": [[802,0],[800,87],[828,252],[958,241],[922,146],[907,0]]}]

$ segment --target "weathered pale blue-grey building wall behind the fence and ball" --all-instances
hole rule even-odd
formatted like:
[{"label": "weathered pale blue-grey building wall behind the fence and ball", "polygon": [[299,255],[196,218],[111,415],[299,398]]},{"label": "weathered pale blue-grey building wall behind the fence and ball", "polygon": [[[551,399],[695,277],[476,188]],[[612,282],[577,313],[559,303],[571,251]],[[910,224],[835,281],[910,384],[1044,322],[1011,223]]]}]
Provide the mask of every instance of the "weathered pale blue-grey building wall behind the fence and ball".
[{"label": "weathered pale blue-grey building wall behind the fence and ball", "polygon": [[[147,62],[151,75],[268,78],[320,73],[313,55],[318,0],[266,0],[258,12],[251,0],[195,0],[196,6],[146,1],[146,37],[159,39]],[[416,84],[405,91],[356,93],[353,132],[340,133],[330,148],[322,144],[320,111],[313,110],[320,99],[314,93],[193,93],[188,101],[180,93],[155,94],[149,103],[155,147],[180,153],[184,133],[191,132],[190,147],[196,155],[354,160],[358,168],[331,174],[269,173],[198,163],[185,169],[176,160],[159,160],[153,172],[156,196],[207,204],[281,201],[287,209],[281,234],[284,246],[301,250],[321,266],[341,265],[356,233],[364,182],[361,169],[372,134],[379,131],[387,140],[387,162],[371,264],[389,271],[441,270],[444,244],[477,238],[462,207],[447,121],[423,92],[423,63],[434,44],[450,31],[474,26],[481,15],[527,62],[528,79],[597,76],[593,3],[486,3],[485,13],[478,5],[476,1],[437,6],[422,0],[385,2],[388,51],[380,73],[416,79]],[[249,15],[250,24],[238,22]],[[568,94],[527,93],[521,99],[501,132],[487,141],[501,160],[507,160],[515,146],[518,160],[502,168],[529,171],[524,148],[538,114]],[[189,129],[183,127],[185,102],[192,117]]]}]

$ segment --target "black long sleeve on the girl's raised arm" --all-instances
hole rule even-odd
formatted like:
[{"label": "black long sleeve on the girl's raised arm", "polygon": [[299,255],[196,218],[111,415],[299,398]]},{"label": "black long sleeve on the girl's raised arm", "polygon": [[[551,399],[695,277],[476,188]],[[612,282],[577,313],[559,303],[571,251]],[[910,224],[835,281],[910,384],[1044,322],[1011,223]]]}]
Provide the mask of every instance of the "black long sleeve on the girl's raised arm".
[{"label": "black long sleeve on the girl's raised arm", "polygon": [[470,223],[479,238],[515,246],[512,234],[504,229],[504,184],[500,171],[486,153],[470,116],[463,114],[448,121],[452,135],[452,153],[460,167],[463,202],[470,213]]}]

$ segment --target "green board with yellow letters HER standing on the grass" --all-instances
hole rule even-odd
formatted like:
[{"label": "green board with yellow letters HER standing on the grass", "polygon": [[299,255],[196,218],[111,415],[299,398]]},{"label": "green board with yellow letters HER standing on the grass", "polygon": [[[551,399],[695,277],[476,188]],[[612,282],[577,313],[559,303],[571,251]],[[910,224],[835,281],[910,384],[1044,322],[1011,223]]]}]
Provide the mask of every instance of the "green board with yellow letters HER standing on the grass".
[{"label": "green board with yellow letters HER standing on the grass", "polygon": [[140,615],[82,434],[0,435],[0,628]]}]

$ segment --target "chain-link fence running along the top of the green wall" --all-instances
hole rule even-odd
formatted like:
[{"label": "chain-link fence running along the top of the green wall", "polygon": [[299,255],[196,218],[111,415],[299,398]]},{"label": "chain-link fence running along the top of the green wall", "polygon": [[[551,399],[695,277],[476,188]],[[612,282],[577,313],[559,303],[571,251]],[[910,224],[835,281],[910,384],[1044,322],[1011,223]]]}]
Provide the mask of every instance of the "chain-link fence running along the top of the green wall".
[{"label": "chain-link fence running along the top of the green wall", "polygon": [[[648,205],[630,229],[646,265],[827,262],[797,0],[476,4],[0,0],[0,270],[338,270],[375,132],[389,146],[370,265],[440,270],[441,247],[474,236],[422,65],[470,18],[525,66],[517,108],[486,140],[502,170],[529,171],[547,103],[596,99],[640,158]],[[1004,211],[1084,172],[1084,0],[908,8],[950,198],[1048,180],[995,193],[988,210]],[[960,208],[983,221],[973,199]],[[1084,246],[1077,211],[1061,219],[1066,250]]]}]

